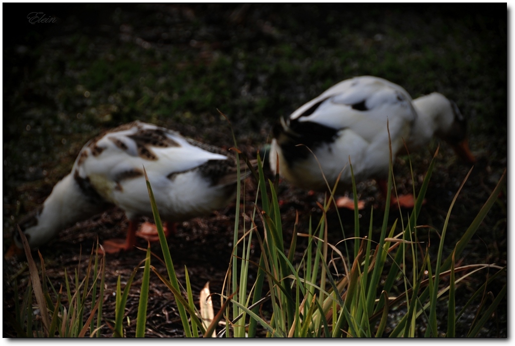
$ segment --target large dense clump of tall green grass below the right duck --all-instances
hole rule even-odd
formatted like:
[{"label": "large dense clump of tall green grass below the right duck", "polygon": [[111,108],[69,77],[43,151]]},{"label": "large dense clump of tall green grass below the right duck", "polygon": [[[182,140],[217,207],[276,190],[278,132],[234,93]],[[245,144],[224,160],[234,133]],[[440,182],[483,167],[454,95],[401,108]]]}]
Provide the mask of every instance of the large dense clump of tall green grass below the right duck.
[{"label": "large dense clump of tall green grass below the right duck", "polygon": [[[248,267],[245,264],[250,263],[250,260],[245,249],[248,249],[253,234],[258,238],[262,255],[258,265],[258,278],[252,285],[253,299],[250,301],[242,293],[246,287],[244,285],[239,286],[238,295],[233,298],[222,295],[224,299],[233,304],[232,317],[234,320],[245,320],[240,315],[249,317],[248,325],[232,324],[234,335],[243,336],[243,332],[248,328],[248,336],[255,336],[259,324],[265,328],[267,336],[272,337],[381,337],[385,333],[387,324],[392,325],[392,321],[389,321],[392,310],[404,305],[406,313],[394,324],[389,332],[390,337],[417,336],[420,325],[424,326],[426,337],[455,336],[456,321],[465,310],[464,308],[460,313],[455,313],[456,285],[479,270],[486,269],[495,272],[469,300],[468,306],[480,293],[484,293],[487,283],[506,273],[506,267],[489,264],[455,267],[455,258],[461,255],[480,222],[495,202],[496,196],[503,186],[505,175],[467,231],[459,239],[453,253],[444,259],[442,257],[443,244],[449,218],[456,201],[456,197],[454,198],[443,229],[440,231],[441,240],[435,261],[428,251],[428,245],[422,244],[417,235],[419,230],[417,217],[422,207],[435,158],[433,158],[422,184],[415,209],[406,224],[399,227],[399,223],[404,221],[396,220],[391,229],[387,230],[389,215],[387,203],[382,232],[378,241],[372,240],[372,225],[370,225],[366,237],[359,237],[359,232],[356,232],[355,237],[341,240],[342,242],[355,241],[356,247],[354,247],[354,253],[351,254],[343,254],[337,250],[336,246],[328,244],[328,232],[331,226],[328,224],[325,213],[328,211],[331,201],[334,200],[333,196],[330,196],[324,205],[319,204],[322,217],[318,223],[309,225],[308,233],[297,233],[297,223],[293,230],[283,229],[276,194],[277,188],[271,181],[265,182],[261,160],[258,158],[259,191],[262,204],[260,207],[255,205],[248,231],[235,242],[244,247],[243,257],[240,259],[233,256],[232,258],[233,262],[241,262],[239,283],[246,283]],[[389,187],[391,187],[391,182],[390,170]],[[387,200],[389,200],[389,196]],[[357,203],[356,200],[355,203]],[[357,213],[354,221],[358,224]],[[287,251],[283,246],[283,232],[293,233]],[[298,237],[307,237],[309,241],[300,263],[294,263],[293,254]],[[340,279],[337,279],[330,270],[330,266],[335,266],[336,262],[341,264],[345,272]],[[386,265],[387,262],[391,263],[389,267]],[[457,273],[463,274],[456,278]],[[233,270],[231,274],[234,277],[236,272]],[[445,280],[443,280],[444,278]],[[400,293],[397,293],[398,287],[404,287]],[[444,299],[445,296],[448,297],[446,298],[449,302],[448,311],[441,312],[437,310],[437,301]],[[482,299],[480,302],[482,308],[477,311],[476,320],[470,326],[468,336],[478,335],[480,328],[489,318],[488,316],[491,316],[505,296],[506,285],[492,301],[486,298]],[[256,303],[263,297],[269,297],[271,302],[272,315],[270,319],[258,314],[258,306],[249,305],[250,302]],[[230,316],[230,311],[227,314]],[[447,331],[442,331],[441,327],[438,327],[437,316],[442,316],[442,314],[447,315]],[[229,334],[226,333],[226,335]]]}]

